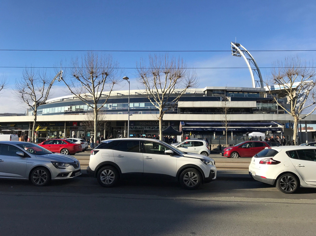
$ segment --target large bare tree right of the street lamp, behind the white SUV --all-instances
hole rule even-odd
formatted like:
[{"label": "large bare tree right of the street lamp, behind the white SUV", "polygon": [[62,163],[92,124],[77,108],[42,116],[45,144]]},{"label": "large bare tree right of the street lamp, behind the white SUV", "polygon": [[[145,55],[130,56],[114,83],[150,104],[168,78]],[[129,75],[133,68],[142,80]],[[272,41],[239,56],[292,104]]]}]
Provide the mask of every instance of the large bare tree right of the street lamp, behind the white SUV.
[{"label": "large bare tree right of the street lamp, behind the white SUV", "polygon": [[146,90],[151,104],[159,110],[159,137],[162,140],[163,115],[173,109],[189,88],[198,86],[195,71],[187,68],[182,58],[149,55],[149,66],[142,59],[137,65],[137,81]]}]

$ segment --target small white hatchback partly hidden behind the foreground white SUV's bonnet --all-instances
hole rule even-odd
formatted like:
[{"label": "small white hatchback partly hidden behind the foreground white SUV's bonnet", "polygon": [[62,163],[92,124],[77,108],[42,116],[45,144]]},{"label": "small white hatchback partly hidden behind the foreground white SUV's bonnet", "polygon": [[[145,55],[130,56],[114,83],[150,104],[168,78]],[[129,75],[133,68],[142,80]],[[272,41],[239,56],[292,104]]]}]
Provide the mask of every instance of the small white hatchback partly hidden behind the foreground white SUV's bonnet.
[{"label": "small white hatchback partly hidden behind the foreground white SUV's bonnet", "polygon": [[203,139],[186,139],[181,143],[171,145],[184,152],[197,153],[204,156],[210,155],[209,145]]}]

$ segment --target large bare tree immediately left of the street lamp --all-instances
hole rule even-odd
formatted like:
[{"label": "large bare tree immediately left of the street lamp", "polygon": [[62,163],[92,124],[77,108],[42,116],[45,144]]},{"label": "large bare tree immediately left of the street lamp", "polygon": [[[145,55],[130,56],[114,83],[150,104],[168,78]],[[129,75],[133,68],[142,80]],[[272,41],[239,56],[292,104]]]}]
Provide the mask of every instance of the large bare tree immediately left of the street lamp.
[{"label": "large bare tree immediately left of the street lamp", "polygon": [[94,143],[97,135],[98,113],[107,103],[116,84],[122,81],[119,63],[111,55],[88,52],[79,62],[72,60],[71,78],[64,80],[69,91],[93,110]]}]

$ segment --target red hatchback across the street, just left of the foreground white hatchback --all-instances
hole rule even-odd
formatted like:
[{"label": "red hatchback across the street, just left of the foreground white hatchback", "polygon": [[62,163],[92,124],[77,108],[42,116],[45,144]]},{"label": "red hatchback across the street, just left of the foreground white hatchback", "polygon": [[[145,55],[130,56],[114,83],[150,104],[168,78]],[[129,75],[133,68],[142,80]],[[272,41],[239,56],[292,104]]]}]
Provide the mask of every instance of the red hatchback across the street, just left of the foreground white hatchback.
[{"label": "red hatchback across the street, just left of the foreground white hatchback", "polygon": [[[274,143],[275,146],[277,145]],[[264,150],[266,147],[274,146],[272,143],[267,143],[264,141],[246,141],[236,144],[232,147],[227,147],[222,150],[222,156],[227,156],[231,158],[238,157],[252,157],[259,151]]]}]

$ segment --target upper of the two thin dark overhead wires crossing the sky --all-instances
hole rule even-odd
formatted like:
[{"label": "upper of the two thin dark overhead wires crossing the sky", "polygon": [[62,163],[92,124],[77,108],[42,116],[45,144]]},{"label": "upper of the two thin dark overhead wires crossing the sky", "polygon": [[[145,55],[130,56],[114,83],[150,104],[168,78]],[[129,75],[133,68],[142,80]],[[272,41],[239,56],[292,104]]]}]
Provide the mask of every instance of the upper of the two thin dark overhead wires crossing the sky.
[{"label": "upper of the two thin dark overhead wires crossing the sky", "polygon": [[[47,50],[47,49],[0,49],[0,51],[39,52],[230,52],[231,50]],[[316,50],[248,50],[252,52],[314,52]]]}]

